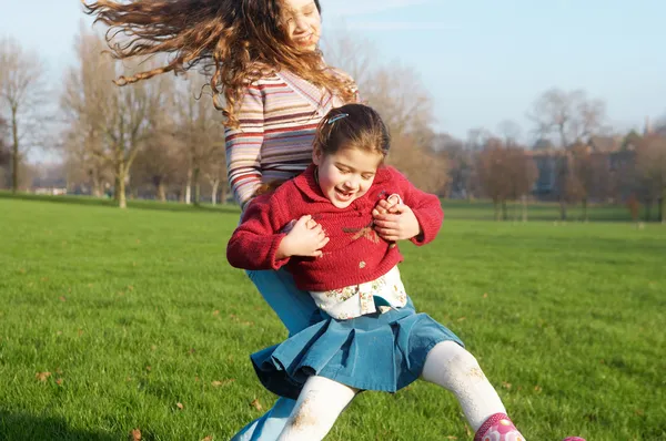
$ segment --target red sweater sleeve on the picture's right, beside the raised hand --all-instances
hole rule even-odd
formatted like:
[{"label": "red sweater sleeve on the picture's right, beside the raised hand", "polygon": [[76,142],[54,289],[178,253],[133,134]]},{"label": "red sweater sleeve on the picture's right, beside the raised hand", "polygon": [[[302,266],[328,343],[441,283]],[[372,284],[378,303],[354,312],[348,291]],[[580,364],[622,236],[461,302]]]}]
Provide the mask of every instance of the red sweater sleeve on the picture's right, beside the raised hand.
[{"label": "red sweater sleeve on the picture's right, beside the raised hand", "polygon": [[440,198],[434,194],[416,188],[397,170],[392,170],[392,172],[395,175],[395,182],[404,194],[403,203],[414,212],[422,229],[418,236],[412,237],[410,240],[418,246],[433,242],[444,221],[444,211]]}]

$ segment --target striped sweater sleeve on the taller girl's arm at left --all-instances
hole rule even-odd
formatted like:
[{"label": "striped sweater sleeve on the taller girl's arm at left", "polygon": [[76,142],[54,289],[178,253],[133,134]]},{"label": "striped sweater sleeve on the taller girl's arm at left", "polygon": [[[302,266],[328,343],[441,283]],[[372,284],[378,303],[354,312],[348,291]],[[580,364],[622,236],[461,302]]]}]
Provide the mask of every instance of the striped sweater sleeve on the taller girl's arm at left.
[{"label": "striped sweater sleeve on the taller girl's arm at left", "polygon": [[250,84],[236,111],[239,126],[224,133],[226,175],[241,208],[262,183],[261,146],[264,140],[264,100],[259,82]]}]

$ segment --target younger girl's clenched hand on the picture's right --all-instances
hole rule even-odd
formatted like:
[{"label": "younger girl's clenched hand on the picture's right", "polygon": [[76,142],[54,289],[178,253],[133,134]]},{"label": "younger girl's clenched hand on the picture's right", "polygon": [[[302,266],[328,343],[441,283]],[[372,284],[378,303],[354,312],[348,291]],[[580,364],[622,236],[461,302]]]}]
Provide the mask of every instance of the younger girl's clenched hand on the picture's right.
[{"label": "younger girl's clenched hand on the picture's right", "polygon": [[387,242],[405,240],[421,234],[421,225],[412,208],[401,202],[380,201],[372,211],[375,232]]}]

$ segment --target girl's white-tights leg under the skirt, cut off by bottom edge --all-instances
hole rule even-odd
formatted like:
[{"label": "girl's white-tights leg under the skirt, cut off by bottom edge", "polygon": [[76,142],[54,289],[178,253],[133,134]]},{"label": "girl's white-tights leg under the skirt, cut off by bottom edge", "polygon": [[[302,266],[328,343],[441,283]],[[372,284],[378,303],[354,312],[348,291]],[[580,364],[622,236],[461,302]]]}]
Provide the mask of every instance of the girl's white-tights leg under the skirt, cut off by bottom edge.
[{"label": "girl's white-tights leg under the skirt, cut off by bottom edge", "polygon": [[356,392],[325,377],[310,377],[278,441],[322,440]]}]

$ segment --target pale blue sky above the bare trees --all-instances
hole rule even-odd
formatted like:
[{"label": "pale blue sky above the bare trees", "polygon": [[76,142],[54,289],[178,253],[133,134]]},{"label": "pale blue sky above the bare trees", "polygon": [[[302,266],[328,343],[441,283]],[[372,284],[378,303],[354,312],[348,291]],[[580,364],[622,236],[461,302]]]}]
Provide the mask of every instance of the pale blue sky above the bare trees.
[{"label": "pale blue sky above the bare trees", "polygon": [[[606,101],[617,130],[666,116],[666,1],[322,0],[324,33],[344,27],[382,62],[411,66],[428,89],[435,129],[465,137],[511,119],[527,135],[534,100],[558,86]],[[73,62],[78,0],[0,0],[0,35],[47,61],[53,99]],[[525,136],[525,141],[529,139]]]}]

